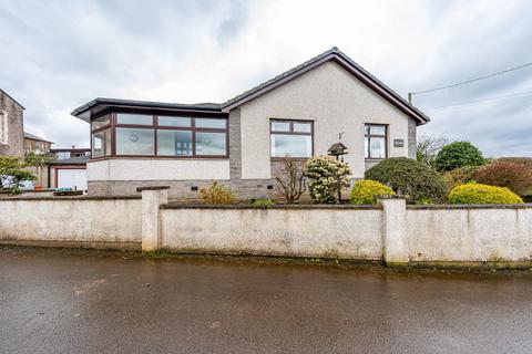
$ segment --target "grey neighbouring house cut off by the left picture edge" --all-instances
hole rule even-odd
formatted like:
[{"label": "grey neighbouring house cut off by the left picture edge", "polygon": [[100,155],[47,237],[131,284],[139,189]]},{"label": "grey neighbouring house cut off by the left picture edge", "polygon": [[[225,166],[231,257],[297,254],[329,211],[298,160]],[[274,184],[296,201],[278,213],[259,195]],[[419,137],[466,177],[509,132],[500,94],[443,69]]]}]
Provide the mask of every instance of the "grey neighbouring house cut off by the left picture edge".
[{"label": "grey neighbouring house cut off by the left picture edge", "polygon": [[0,88],[0,155],[22,157],[24,107]]}]

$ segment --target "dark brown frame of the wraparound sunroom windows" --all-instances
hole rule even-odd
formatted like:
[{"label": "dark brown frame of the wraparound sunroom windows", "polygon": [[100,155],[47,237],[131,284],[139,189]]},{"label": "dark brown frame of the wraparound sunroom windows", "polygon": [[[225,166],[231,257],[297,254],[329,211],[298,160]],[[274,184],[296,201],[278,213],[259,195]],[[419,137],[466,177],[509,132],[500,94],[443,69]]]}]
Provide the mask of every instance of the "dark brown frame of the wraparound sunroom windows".
[{"label": "dark brown frame of the wraparound sunroom windows", "polygon": [[[206,158],[206,159],[226,159],[229,158],[229,121],[227,116],[211,116],[208,114],[198,115],[197,113],[178,113],[178,114],[156,114],[156,113],[140,113],[140,112],[106,112],[101,114],[94,119],[98,119],[106,114],[111,115],[110,124],[98,127],[96,129],[91,129],[91,155],[93,152],[92,146],[92,135],[100,131],[111,128],[111,155],[105,155],[101,157],[91,157],[92,160],[105,159],[110,157],[117,158],[160,158],[160,159],[190,159],[190,158]],[[117,124],[119,114],[141,114],[152,117],[152,124]],[[186,117],[191,118],[191,126],[171,126],[171,125],[158,125],[158,117]],[[196,119],[207,118],[207,119],[223,119],[225,121],[225,128],[203,128],[196,127]],[[91,128],[92,121],[91,119]],[[117,155],[116,154],[116,128],[139,128],[139,129],[152,129],[153,131],[153,142],[154,142],[154,154],[153,155]],[[192,132],[192,155],[158,155],[158,144],[157,144],[157,132],[158,131],[184,131]],[[196,154],[196,132],[204,133],[224,133],[225,134],[225,154],[224,155],[197,155]]]}]

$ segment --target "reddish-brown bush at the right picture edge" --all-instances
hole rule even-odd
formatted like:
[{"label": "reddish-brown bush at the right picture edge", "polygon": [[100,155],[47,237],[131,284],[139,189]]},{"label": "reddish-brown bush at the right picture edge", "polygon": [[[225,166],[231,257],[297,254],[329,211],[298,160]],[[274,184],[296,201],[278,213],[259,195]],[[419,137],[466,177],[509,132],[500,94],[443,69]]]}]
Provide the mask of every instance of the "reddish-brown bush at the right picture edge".
[{"label": "reddish-brown bush at the right picture edge", "polygon": [[532,168],[522,164],[495,160],[479,168],[474,179],[479,184],[507,187],[523,196],[532,189]]}]

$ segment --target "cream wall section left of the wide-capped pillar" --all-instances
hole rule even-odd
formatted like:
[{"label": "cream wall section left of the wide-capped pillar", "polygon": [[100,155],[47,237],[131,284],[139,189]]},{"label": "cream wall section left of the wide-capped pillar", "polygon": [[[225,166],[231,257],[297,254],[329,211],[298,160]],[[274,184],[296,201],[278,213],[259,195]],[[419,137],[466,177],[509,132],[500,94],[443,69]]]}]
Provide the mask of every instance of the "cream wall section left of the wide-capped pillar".
[{"label": "cream wall section left of the wide-capped pillar", "polygon": [[141,199],[2,199],[0,243],[140,249]]}]

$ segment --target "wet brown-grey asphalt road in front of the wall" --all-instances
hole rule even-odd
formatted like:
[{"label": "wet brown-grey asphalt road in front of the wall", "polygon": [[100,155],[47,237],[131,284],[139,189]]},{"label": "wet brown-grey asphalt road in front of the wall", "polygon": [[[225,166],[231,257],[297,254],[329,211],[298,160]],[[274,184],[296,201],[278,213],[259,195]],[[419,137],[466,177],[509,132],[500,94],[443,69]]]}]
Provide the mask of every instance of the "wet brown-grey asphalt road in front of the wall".
[{"label": "wet brown-grey asphalt road in front of the wall", "polygon": [[0,248],[2,353],[531,353],[532,274]]}]

